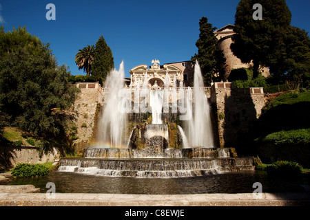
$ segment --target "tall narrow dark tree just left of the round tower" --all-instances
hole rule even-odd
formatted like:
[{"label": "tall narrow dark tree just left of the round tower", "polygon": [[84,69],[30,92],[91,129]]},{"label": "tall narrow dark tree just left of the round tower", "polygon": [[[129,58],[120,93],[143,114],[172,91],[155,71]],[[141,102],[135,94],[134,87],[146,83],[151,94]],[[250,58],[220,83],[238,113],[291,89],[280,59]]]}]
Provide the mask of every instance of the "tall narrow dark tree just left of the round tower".
[{"label": "tall narrow dark tree just left of the round tower", "polygon": [[203,17],[199,21],[199,39],[196,41],[198,54],[192,57],[192,61],[198,61],[205,78],[205,83],[210,84],[214,74],[225,72],[225,57],[223,51],[218,48],[218,39],[214,35],[214,30],[208,19]]}]

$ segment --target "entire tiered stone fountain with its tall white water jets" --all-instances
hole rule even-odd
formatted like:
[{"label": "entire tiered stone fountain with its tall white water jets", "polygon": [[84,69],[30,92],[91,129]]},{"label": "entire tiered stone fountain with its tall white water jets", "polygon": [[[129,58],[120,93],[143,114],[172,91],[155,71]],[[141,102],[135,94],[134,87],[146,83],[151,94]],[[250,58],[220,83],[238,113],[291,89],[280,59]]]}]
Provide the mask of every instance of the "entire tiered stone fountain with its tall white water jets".
[{"label": "entire tiered stone fountain with its tall white water jets", "polygon": [[[116,177],[192,177],[254,168],[250,157],[231,157],[229,148],[214,147],[210,108],[202,89],[198,62],[194,72],[194,94],[191,88],[185,89],[183,85],[177,92],[175,76],[173,87],[169,88],[168,74],[163,90],[156,81],[148,85],[147,74],[136,88],[125,89],[123,77],[121,63],[119,70],[112,70],[106,80],[110,92],[97,135],[102,145],[86,148],[82,158],[62,158],[60,171]],[[126,97],[131,98],[132,89],[132,112],[152,113],[152,123],[136,123],[127,137],[124,131],[129,122],[125,111],[120,111],[119,94],[125,91],[130,93]],[[178,107],[181,113],[186,113],[180,115],[184,123],[163,120],[163,113],[178,113]],[[184,130],[182,124],[187,124]]]}]

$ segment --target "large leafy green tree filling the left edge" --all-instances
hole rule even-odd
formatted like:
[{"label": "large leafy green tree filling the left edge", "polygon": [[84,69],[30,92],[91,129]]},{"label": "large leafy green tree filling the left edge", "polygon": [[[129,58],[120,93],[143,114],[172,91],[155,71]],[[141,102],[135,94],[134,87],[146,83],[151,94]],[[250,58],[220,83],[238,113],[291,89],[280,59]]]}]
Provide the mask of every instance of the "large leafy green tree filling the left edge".
[{"label": "large leafy green tree filling the left edge", "polygon": [[62,137],[77,91],[67,67],[25,28],[2,27],[0,39],[0,117],[34,135]]}]

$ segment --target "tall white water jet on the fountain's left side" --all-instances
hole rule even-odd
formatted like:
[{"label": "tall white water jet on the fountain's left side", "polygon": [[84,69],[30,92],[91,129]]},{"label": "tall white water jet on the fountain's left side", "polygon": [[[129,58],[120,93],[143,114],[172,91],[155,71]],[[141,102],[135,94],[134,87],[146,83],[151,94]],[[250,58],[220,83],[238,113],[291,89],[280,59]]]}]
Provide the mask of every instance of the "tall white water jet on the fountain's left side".
[{"label": "tall white water jet on the fountain's left side", "polygon": [[124,131],[126,128],[126,113],[119,111],[118,104],[121,97],[118,92],[125,88],[124,63],[119,66],[118,71],[113,69],[105,80],[105,87],[108,87],[107,104],[99,120],[98,142],[101,147],[123,148]]}]

